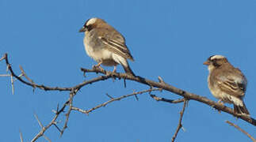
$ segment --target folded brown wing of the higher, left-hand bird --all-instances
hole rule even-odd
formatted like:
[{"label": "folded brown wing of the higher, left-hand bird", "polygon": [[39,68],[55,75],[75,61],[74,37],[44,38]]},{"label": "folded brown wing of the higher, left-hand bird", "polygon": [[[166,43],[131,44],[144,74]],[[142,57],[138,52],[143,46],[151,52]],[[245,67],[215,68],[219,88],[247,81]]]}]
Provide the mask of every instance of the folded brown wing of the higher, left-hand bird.
[{"label": "folded brown wing of the higher, left-hand bird", "polygon": [[114,28],[110,30],[109,28],[101,28],[99,31],[101,33],[99,34],[98,38],[101,39],[102,43],[106,45],[107,50],[134,61],[132,54],[128,50],[128,47],[126,47],[124,36],[122,36]]}]

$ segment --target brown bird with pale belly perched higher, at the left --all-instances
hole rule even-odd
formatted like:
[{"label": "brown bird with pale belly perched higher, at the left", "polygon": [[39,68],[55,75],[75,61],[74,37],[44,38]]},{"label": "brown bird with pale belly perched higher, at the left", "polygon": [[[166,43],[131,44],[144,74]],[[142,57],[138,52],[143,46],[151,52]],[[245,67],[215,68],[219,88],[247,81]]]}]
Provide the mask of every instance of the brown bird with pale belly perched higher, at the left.
[{"label": "brown bird with pale belly perched higher, at the left", "polygon": [[97,62],[94,67],[114,66],[113,73],[116,73],[117,65],[120,64],[125,73],[135,76],[128,64],[128,59],[134,61],[132,54],[126,46],[124,36],[115,28],[103,19],[93,17],[86,21],[79,32],[85,32],[84,47],[86,54]]}]

